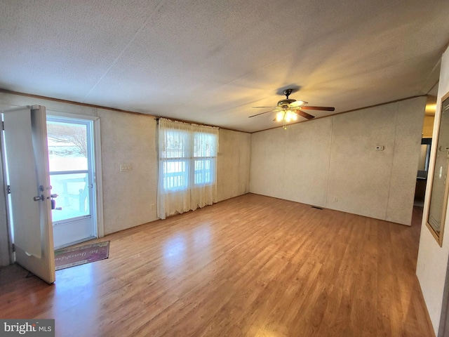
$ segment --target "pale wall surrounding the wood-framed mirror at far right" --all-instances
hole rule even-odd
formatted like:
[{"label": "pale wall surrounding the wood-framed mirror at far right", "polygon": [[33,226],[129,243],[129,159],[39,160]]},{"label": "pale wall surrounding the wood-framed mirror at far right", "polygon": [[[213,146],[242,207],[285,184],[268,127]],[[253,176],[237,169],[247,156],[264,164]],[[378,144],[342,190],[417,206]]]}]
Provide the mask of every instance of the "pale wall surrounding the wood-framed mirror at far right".
[{"label": "pale wall surrounding the wood-framed mirror at far right", "polygon": [[[441,117],[441,98],[449,92],[449,48],[443,54],[441,60],[440,81],[438,85],[438,98],[435,114],[434,139]],[[429,167],[429,177],[434,171],[434,159],[436,147],[431,149],[431,165]],[[446,209],[445,234],[443,235],[443,244],[440,247],[426,226],[427,215],[429,213],[429,197],[431,182],[427,183],[426,198],[424,200],[424,213],[422,216],[422,227],[420,237],[420,249],[418,252],[416,274],[420,280],[422,294],[429,311],[430,319],[434,325],[434,330],[438,336],[438,327],[441,316],[441,306],[443,303],[443,291],[448,266],[449,256],[449,205]]]}]

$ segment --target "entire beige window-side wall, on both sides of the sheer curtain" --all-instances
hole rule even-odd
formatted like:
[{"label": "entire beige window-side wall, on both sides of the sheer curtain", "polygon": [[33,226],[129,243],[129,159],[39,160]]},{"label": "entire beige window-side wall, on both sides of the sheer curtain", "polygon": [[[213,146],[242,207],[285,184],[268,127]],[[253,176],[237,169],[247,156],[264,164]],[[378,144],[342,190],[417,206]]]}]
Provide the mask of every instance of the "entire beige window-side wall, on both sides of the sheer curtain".
[{"label": "entire beige window-side wall, on both sides of the sheer curtain", "polygon": [[[128,114],[53,100],[0,93],[0,109],[43,105],[47,112],[100,117],[102,153],[103,219],[105,234],[156,220],[157,154],[156,120],[144,114]],[[224,200],[249,191],[250,133],[220,130],[217,163],[217,197]],[[120,172],[120,164],[132,171]],[[0,194],[0,206],[4,196]],[[151,205],[154,204],[154,209]],[[4,207],[0,233],[6,233]],[[6,237],[6,234],[5,234]],[[7,245],[0,240],[0,263],[7,264]]]}]

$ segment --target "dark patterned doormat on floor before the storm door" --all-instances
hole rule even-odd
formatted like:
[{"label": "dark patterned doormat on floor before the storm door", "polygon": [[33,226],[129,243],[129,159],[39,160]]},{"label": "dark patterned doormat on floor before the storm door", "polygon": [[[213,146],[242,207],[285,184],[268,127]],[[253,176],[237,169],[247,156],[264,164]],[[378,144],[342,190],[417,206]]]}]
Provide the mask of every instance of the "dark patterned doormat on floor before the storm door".
[{"label": "dark patterned doormat on floor before the storm door", "polygon": [[65,269],[75,265],[83,265],[109,257],[109,241],[97,244],[86,244],[76,248],[55,251],[55,269]]}]

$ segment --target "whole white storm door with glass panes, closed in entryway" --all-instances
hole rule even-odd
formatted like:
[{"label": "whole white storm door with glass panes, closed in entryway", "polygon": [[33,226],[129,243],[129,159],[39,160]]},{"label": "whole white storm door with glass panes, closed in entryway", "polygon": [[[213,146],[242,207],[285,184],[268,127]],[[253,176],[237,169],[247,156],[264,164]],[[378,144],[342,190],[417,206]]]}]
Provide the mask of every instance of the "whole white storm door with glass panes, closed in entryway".
[{"label": "whole white storm door with glass panes, closed in entryway", "polygon": [[98,237],[93,121],[47,116],[55,249]]}]

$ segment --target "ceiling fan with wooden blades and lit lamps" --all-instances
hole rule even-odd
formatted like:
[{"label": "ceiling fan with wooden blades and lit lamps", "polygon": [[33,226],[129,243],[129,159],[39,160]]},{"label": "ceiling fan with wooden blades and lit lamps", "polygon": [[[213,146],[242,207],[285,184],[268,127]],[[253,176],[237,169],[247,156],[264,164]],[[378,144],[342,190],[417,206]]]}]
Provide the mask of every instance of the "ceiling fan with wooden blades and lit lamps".
[{"label": "ceiling fan with wooden blades and lit lamps", "polygon": [[[287,128],[287,124],[290,121],[296,121],[297,116],[300,115],[306,119],[313,119],[315,116],[308,114],[303,110],[321,110],[321,111],[334,111],[335,107],[311,107],[306,105],[307,102],[304,100],[293,100],[293,98],[288,98],[288,96],[292,93],[293,89],[286,89],[283,91],[283,94],[286,95],[285,100],[280,100],[276,107],[269,107],[273,110],[269,110],[266,112],[261,112],[260,114],[267,114],[269,112],[276,112],[276,118],[274,121],[283,121],[283,128]],[[255,107],[261,108],[261,107]],[[253,114],[251,117],[259,116],[260,114]]]}]

